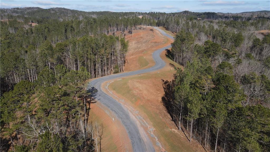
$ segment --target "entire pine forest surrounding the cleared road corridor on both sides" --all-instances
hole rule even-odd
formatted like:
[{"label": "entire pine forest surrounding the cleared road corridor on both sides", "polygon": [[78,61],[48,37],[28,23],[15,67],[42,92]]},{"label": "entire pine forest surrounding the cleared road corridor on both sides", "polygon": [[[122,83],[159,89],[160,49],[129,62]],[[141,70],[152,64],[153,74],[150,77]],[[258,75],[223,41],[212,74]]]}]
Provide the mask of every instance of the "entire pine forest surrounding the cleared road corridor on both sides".
[{"label": "entire pine forest surrounding the cleared road corridor on both sides", "polygon": [[179,129],[208,150],[270,151],[270,35],[255,32],[269,14],[1,9],[0,150],[99,151],[85,83],[124,71],[126,34],[164,26],[185,67],[163,83]]}]

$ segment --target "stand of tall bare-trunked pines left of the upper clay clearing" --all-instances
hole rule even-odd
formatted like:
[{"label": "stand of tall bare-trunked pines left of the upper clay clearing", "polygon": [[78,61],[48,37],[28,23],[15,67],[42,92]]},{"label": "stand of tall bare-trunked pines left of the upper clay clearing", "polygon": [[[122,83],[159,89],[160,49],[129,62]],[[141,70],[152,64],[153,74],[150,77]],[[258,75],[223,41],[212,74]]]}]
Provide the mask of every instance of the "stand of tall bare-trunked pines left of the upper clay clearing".
[{"label": "stand of tall bare-trunked pines left of the upper clay clearing", "polygon": [[[18,37],[20,38],[20,37]],[[16,39],[14,39],[14,42]],[[22,41],[21,41],[22,42]],[[56,66],[63,64],[68,70],[85,67],[92,78],[124,71],[128,42],[124,38],[84,36],[59,42],[53,47],[44,41],[39,47],[13,49],[1,45],[1,89],[9,90],[22,80],[35,82],[45,66],[56,75]]]}]

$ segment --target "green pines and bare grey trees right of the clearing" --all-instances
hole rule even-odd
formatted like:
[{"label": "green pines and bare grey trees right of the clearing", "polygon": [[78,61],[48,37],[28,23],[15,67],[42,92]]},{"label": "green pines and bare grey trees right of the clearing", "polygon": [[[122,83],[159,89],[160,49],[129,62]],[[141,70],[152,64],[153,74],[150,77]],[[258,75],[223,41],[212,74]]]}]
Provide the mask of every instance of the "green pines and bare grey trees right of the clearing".
[{"label": "green pines and bare grey trees right of the clearing", "polygon": [[[235,34],[229,49],[176,35],[167,55],[184,65],[163,81],[163,103],[189,140],[214,151],[269,151],[270,35]],[[249,42],[249,43],[248,43]]]}]

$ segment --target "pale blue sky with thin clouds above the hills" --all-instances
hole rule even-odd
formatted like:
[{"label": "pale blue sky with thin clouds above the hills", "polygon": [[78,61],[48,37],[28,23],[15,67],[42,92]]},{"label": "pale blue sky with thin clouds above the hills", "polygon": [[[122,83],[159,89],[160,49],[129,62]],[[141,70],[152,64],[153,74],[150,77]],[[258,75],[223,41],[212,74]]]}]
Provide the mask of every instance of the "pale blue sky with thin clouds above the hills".
[{"label": "pale blue sky with thin clouds above the hills", "polygon": [[113,12],[223,12],[270,10],[268,1],[13,1],[1,0],[1,8],[64,7],[80,11]]}]

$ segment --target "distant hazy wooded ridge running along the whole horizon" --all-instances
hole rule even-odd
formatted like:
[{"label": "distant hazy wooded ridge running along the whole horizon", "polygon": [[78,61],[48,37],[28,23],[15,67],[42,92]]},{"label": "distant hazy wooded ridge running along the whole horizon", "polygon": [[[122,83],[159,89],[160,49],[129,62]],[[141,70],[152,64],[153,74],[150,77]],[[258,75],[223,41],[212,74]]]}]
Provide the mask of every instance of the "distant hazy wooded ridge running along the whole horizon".
[{"label": "distant hazy wooded ridge running along the whole horizon", "polygon": [[[253,11],[253,12],[241,12],[241,13],[215,13],[215,12],[191,12],[182,11],[175,13],[163,13],[163,12],[110,12],[110,11],[79,11],[68,8],[48,8],[43,9],[39,7],[25,7],[25,8],[1,8],[1,20],[14,19],[11,16],[17,16],[22,18],[40,18],[40,19],[59,19],[59,20],[72,20],[83,19],[85,17],[98,17],[102,15],[112,15],[113,17],[137,17],[147,16],[152,17],[155,20],[157,14],[168,14],[167,16],[185,16],[191,19],[213,19],[213,20],[238,20],[242,21],[251,20],[254,18],[268,18],[270,19],[270,11]],[[156,14],[156,15],[154,15]],[[154,15],[154,16],[153,16]],[[19,20],[20,20],[19,19]]]}]

